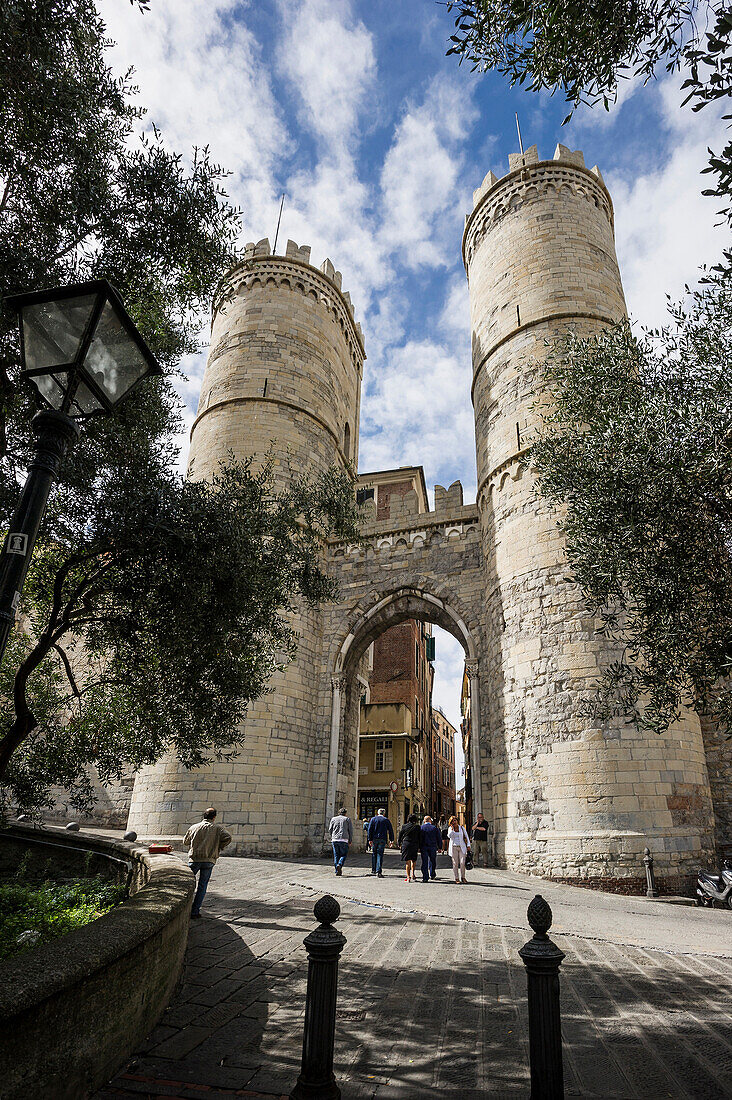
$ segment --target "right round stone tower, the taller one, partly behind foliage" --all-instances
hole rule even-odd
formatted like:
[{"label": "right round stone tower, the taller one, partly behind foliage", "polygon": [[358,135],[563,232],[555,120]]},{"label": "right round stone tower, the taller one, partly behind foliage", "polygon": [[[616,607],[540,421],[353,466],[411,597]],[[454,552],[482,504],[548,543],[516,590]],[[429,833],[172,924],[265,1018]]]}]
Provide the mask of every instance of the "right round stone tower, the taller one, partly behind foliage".
[{"label": "right round stone tower, the taller one, partly behind foliage", "polygon": [[613,653],[567,581],[558,517],[522,464],[547,342],[625,312],[610,195],[597,167],[558,145],[553,161],[536,146],[511,156],[473,200],[463,258],[485,570],[483,805],[496,854],[516,870],[612,880],[640,868],[648,845],[665,876],[688,872],[712,848],[699,722],[687,714],[656,737],[583,716]]}]

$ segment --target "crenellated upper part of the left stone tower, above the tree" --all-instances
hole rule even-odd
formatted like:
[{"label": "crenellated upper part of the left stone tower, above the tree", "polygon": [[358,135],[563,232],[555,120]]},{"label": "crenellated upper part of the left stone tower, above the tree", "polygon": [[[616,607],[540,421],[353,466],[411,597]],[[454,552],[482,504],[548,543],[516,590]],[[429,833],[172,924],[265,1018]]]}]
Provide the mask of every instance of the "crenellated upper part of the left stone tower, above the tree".
[{"label": "crenellated upper part of the left stone tower, above the tree", "polygon": [[230,452],[261,460],[273,450],[283,485],[304,470],[358,463],[364,351],[340,273],[330,261],[310,266],[293,242],[292,256],[260,245],[266,251],[227,276],[214,305],[190,432],[194,480],[210,477]]}]

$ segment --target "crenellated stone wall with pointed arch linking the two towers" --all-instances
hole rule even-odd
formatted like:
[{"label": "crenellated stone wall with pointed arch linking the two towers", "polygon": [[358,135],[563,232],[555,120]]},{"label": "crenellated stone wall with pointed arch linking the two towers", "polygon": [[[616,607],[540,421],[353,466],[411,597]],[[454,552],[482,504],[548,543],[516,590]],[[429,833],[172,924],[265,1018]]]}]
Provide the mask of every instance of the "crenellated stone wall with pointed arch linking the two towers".
[{"label": "crenellated stone wall with pointed arch linking the two towers", "polygon": [[[392,505],[398,497],[392,498]],[[483,651],[483,563],[476,505],[463,506],[459,482],[446,493],[436,487],[434,512],[417,512],[408,493],[387,519],[376,520],[364,509],[361,546],[330,548],[340,600],[326,612],[326,636],[331,639],[327,669],[331,673],[330,741],[326,817],[336,803],[358,799],[359,697],[358,670],[368,647],[390,626],[404,619],[425,619],[461,644],[470,676],[471,714],[480,708],[479,670]],[[483,790],[490,805],[490,741],[482,750],[472,741],[472,776],[482,776],[474,792],[482,811]],[[482,767],[481,767],[482,763]]]}]

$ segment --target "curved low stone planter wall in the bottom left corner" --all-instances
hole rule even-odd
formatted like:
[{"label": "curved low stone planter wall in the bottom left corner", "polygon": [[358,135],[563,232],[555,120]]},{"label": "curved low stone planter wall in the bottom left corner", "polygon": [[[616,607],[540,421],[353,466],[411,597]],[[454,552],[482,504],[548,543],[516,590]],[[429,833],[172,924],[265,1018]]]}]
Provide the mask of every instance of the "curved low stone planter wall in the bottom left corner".
[{"label": "curved low stone planter wall in the bottom left corner", "polygon": [[1,836],[43,839],[132,864],[122,904],[58,939],[0,963],[3,1100],[83,1100],[107,1081],[157,1023],[177,983],[194,877],[173,855],[140,846],[13,826]]}]

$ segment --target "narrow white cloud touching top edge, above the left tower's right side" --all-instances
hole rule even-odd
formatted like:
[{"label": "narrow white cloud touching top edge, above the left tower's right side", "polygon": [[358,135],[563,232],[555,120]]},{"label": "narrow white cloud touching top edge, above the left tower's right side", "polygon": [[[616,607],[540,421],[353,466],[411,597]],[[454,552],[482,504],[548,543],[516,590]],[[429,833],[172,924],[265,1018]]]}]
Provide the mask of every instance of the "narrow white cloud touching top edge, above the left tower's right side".
[{"label": "narrow white cloud touching top edge, above the left tower's right side", "polygon": [[357,122],[376,76],[373,41],[348,0],[283,0],[280,64],[301,119],[329,146],[354,144]]}]

